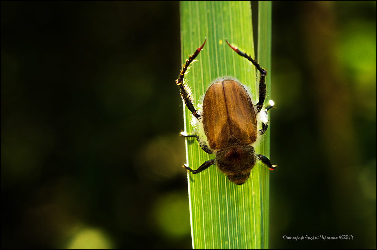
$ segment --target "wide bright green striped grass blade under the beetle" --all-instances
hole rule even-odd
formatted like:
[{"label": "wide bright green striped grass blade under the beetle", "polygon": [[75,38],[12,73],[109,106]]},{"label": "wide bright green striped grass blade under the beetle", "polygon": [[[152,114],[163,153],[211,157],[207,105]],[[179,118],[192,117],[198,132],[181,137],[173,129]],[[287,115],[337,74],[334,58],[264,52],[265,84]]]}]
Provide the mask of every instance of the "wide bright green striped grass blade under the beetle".
[{"label": "wide bright green striped grass blade under the beetle", "polygon": [[[207,43],[185,75],[195,104],[218,77],[235,77],[255,95],[255,67],[236,54],[228,41],[254,56],[250,2],[181,2],[182,62],[207,37]],[[271,17],[269,17],[271,18]],[[264,61],[259,60],[262,67]],[[267,68],[267,71],[269,68]],[[269,76],[269,75],[268,75]],[[268,92],[269,94],[269,92]],[[256,99],[256,98],[254,98]],[[192,133],[191,114],[184,108],[185,131]],[[265,144],[256,152],[266,155]],[[187,164],[197,169],[215,158],[203,152],[196,140],[186,140]],[[193,248],[267,248],[268,169],[260,162],[241,186],[231,183],[216,166],[189,173],[190,217]]]}]

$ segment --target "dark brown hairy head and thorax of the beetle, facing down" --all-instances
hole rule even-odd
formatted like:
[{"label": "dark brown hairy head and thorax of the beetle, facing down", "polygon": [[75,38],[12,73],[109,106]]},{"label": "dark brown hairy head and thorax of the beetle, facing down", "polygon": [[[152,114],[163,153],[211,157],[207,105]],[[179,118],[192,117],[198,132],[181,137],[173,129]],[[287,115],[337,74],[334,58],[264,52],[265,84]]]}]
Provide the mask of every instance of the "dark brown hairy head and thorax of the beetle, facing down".
[{"label": "dark brown hairy head and thorax of the beetle, facing down", "polygon": [[250,176],[256,163],[253,147],[230,147],[216,152],[216,164],[234,184],[241,185]]}]

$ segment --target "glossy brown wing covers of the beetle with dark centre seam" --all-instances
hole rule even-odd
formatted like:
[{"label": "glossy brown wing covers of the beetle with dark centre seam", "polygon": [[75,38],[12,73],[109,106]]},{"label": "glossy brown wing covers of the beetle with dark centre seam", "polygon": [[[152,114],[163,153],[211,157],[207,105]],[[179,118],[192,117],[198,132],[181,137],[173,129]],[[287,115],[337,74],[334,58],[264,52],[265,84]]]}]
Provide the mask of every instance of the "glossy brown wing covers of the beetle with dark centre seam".
[{"label": "glossy brown wing covers of the beetle with dark centre seam", "polygon": [[253,144],[257,123],[245,88],[234,80],[213,83],[203,100],[203,125],[211,149]]}]

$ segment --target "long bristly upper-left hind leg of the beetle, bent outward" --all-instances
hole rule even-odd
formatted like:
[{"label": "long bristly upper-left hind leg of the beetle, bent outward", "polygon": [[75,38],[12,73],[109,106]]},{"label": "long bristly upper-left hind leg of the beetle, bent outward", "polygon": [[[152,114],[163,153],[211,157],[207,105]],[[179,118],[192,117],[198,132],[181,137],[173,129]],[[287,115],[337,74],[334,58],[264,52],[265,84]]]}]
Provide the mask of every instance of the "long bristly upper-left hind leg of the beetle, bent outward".
[{"label": "long bristly upper-left hind leg of the beetle, bent outward", "polygon": [[192,97],[191,97],[191,90],[188,86],[184,84],[183,78],[185,77],[185,73],[187,69],[190,66],[190,63],[196,58],[196,56],[199,54],[199,52],[202,50],[205,41],[207,41],[207,38],[205,38],[204,43],[202,46],[200,46],[198,49],[196,49],[195,53],[193,55],[189,56],[189,59],[186,59],[186,64],[183,66],[183,69],[181,70],[181,74],[179,77],[175,80],[175,83],[181,88],[181,97],[183,98],[183,101],[186,104],[186,107],[191,111],[191,113],[196,117],[199,118],[200,115],[197,113],[198,110],[195,109],[194,104],[192,103]]}]

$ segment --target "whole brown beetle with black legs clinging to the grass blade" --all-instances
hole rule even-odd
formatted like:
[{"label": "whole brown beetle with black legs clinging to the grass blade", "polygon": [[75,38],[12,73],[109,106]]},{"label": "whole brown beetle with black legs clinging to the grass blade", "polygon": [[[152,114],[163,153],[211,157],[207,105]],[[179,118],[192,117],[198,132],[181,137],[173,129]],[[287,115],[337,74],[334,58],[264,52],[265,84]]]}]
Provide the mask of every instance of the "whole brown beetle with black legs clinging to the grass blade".
[{"label": "whole brown beetle with black legs clinging to the grass blade", "polygon": [[[184,82],[184,75],[203,49],[206,41],[207,38],[193,55],[189,55],[189,59],[186,59],[186,63],[175,82],[181,88],[181,97],[193,115],[192,123],[196,124],[199,130],[199,135],[187,135],[184,132],[181,135],[196,138],[204,152],[215,153],[216,158],[205,161],[196,170],[191,169],[186,164],[183,167],[196,174],[211,165],[217,165],[231,182],[241,185],[249,178],[251,169],[253,169],[257,160],[262,161],[270,170],[276,169],[276,165],[273,165],[266,156],[256,154],[253,147],[259,137],[267,130],[267,111],[273,107],[273,102],[270,102],[270,106],[263,107],[266,97],[265,77],[267,71],[255,59],[240,51],[237,47],[231,46],[226,40],[230,48],[249,60],[260,72],[259,100],[256,104],[253,104],[245,86],[236,79],[225,77],[218,78],[208,87],[202,106],[199,104],[198,109],[196,109],[193,104],[191,89]],[[258,127],[259,122],[261,124]]]}]

